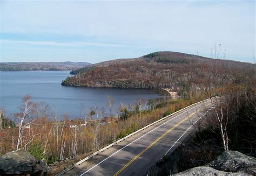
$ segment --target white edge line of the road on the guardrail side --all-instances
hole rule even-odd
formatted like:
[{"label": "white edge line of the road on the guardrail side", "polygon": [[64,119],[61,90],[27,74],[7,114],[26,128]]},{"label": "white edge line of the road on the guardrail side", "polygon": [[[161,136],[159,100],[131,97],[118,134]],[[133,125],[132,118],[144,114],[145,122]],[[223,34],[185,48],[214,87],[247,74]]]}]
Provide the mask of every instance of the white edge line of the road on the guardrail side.
[{"label": "white edge line of the road on the guardrail side", "polygon": [[[196,105],[196,107],[198,107],[199,105],[201,105],[201,104]],[[131,143],[127,144],[127,145],[126,145],[126,146],[124,146],[122,149],[119,149],[118,151],[114,152],[113,154],[111,154],[111,156],[109,156],[109,157],[105,158],[104,160],[102,160],[102,161],[100,161],[98,164],[96,164],[95,166],[91,167],[89,170],[87,170],[87,171],[85,171],[84,173],[80,174],[80,176],[82,176],[82,175],[84,175],[85,173],[87,173],[87,172],[91,171],[93,168],[95,168],[95,167],[96,167],[96,166],[98,166],[99,164],[103,163],[105,160],[109,159],[109,158],[110,158],[110,157],[112,157],[114,154],[118,153],[119,151],[121,151],[121,150],[125,149],[127,146],[129,146],[129,145],[131,145],[132,143],[136,142],[136,141],[137,141],[137,140],[139,140],[140,138],[142,138],[142,137],[146,136],[148,133],[150,133],[150,132],[152,132],[152,131],[154,131],[154,130],[158,129],[160,126],[162,126],[162,125],[166,124],[167,122],[170,122],[172,119],[177,118],[177,117],[179,117],[180,115],[184,114],[185,112],[187,112],[187,111],[189,111],[189,110],[191,110],[191,109],[193,109],[193,108],[196,108],[196,107],[192,107],[192,108],[190,108],[190,109],[188,109],[188,110],[186,110],[186,111],[182,112],[182,113],[181,113],[181,114],[179,114],[178,116],[171,118],[169,121],[166,121],[165,123],[163,123],[163,124],[161,124],[161,125],[157,126],[156,128],[152,129],[151,131],[149,131],[149,132],[145,133],[145,135],[140,136],[140,137],[139,137],[139,138],[137,138],[136,140],[133,140],[133,142],[131,142]],[[183,134],[183,135],[184,135],[184,134]],[[177,143],[177,142],[176,142],[176,143]]]}]

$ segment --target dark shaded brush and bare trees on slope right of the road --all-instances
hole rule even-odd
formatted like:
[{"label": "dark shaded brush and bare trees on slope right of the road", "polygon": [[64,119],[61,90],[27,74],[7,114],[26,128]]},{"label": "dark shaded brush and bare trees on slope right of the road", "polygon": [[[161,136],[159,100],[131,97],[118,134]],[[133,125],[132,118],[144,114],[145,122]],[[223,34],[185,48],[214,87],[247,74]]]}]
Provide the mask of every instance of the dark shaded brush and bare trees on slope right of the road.
[{"label": "dark shaded brush and bare trees on slope right of the road", "polygon": [[225,150],[239,151],[256,157],[256,89],[255,79],[244,87],[227,87],[223,107],[225,136],[224,146],[216,112],[210,111],[195,125],[194,136],[187,138],[171,154],[163,157],[149,170],[149,175],[170,175],[193,167],[204,166]]}]

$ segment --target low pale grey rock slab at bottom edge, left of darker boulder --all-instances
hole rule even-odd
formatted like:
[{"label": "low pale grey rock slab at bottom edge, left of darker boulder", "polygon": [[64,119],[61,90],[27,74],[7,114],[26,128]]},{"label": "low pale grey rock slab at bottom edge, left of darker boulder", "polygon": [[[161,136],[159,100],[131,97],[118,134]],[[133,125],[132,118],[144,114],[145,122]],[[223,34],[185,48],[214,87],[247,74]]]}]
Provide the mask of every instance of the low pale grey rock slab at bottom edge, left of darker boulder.
[{"label": "low pale grey rock slab at bottom edge, left of darker boulder", "polygon": [[180,172],[172,175],[228,175],[228,174],[229,173],[224,171],[215,170],[212,167],[200,166],[200,167],[190,168],[189,170],[186,170],[184,172]]}]

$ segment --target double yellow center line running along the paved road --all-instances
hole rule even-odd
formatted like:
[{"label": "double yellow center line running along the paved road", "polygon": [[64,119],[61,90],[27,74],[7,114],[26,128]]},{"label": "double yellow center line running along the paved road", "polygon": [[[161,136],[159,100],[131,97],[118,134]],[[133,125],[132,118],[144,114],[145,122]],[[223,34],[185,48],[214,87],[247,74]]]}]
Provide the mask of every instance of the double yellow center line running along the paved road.
[{"label": "double yellow center line running along the paved road", "polygon": [[[207,104],[209,105],[209,104]],[[203,108],[205,108],[207,105],[205,105]],[[200,108],[199,110],[203,109]],[[197,111],[199,111],[197,110]],[[129,163],[127,163],[124,167],[122,167],[117,173],[114,174],[114,176],[118,175],[119,173],[121,173],[127,166],[129,166],[134,160],[136,160],[137,158],[139,158],[145,151],[149,150],[149,148],[151,146],[153,146],[154,144],[156,144],[158,142],[158,140],[160,140],[161,138],[165,137],[169,132],[171,132],[174,128],[176,128],[178,125],[180,125],[181,123],[183,123],[184,121],[186,121],[188,118],[190,118],[191,116],[193,116],[194,114],[197,113],[193,112],[190,116],[184,118],[182,121],[180,121],[179,123],[177,123],[176,125],[174,125],[171,129],[169,129],[168,131],[166,131],[163,135],[161,135],[159,138],[157,138],[154,142],[152,142],[149,146],[147,146],[142,152],[140,152],[136,157],[134,157],[132,160],[129,161]]]}]

